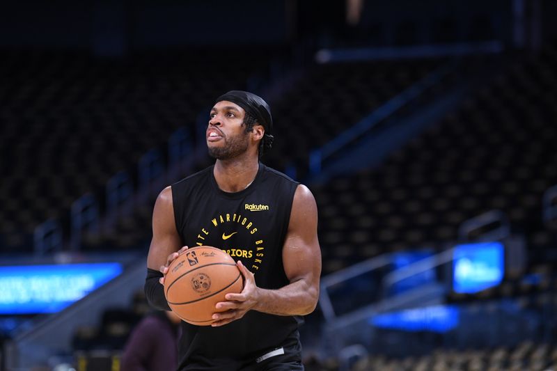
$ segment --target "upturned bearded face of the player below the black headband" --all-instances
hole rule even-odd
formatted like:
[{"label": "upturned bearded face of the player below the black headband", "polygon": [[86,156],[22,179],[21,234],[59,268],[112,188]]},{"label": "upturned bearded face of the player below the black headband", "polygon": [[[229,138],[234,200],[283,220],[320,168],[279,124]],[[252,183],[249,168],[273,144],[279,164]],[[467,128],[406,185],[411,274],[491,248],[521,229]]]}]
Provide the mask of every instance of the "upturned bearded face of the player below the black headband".
[{"label": "upturned bearded face of the player below the black headband", "polygon": [[249,133],[246,132],[246,112],[233,102],[222,100],[211,109],[206,139],[209,155],[215,159],[233,159],[246,152]]}]

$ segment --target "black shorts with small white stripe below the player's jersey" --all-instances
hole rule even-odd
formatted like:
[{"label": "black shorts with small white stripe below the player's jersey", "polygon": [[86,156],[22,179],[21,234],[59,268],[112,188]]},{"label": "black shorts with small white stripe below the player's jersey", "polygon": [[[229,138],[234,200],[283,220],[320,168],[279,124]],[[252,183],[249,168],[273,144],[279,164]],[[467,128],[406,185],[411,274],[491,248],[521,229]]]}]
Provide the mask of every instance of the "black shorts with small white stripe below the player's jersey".
[{"label": "black shorts with small white stripe below the player's jersey", "polygon": [[279,347],[269,350],[249,362],[242,371],[304,371],[301,347]]}]

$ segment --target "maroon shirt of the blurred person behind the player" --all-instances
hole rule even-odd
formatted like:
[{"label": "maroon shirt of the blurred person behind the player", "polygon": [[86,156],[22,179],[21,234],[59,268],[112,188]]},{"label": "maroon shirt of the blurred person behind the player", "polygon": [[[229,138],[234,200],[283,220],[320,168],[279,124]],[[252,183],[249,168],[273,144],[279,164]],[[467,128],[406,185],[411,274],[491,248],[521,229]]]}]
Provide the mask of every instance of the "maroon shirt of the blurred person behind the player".
[{"label": "maroon shirt of the blurred person behind the player", "polygon": [[178,365],[177,328],[164,313],[145,317],[127,340],[121,370],[175,370]]}]

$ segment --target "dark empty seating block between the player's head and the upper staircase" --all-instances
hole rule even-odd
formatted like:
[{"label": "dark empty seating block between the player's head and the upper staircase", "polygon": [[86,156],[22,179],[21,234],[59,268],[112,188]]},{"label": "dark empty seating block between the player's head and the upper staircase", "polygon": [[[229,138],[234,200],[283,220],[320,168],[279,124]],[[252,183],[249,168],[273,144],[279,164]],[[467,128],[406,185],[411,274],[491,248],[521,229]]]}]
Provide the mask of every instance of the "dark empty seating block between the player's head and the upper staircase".
[{"label": "dark empty seating block between the player's head and the upper staircase", "polygon": [[315,65],[288,95],[272,102],[276,141],[265,161],[308,171],[309,152],[441,65],[434,59]]}]

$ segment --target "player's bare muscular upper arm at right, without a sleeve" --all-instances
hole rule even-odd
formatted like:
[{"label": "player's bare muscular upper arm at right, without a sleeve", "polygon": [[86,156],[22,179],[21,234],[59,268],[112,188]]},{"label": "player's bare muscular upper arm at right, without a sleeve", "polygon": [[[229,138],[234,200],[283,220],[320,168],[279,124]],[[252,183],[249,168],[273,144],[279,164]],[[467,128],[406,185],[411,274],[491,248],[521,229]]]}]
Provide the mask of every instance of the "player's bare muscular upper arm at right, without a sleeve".
[{"label": "player's bare muscular upper arm at right, without a sleeve", "polygon": [[299,185],[292,203],[288,234],[283,247],[285,274],[290,282],[305,278],[315,284],[321,274],[321,249],[317,239],[317,205],[311,191]]}]

